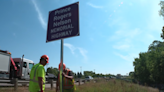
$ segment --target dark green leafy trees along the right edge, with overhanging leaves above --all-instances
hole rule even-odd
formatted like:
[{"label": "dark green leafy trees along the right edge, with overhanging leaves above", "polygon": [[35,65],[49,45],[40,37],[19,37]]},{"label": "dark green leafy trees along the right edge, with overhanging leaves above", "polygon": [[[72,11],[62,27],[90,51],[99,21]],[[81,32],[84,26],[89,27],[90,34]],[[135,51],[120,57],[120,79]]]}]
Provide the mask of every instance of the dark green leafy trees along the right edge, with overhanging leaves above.
[{"label": "dark green leafy trees along the right edge, with overhanging leaves above", "polygon": [[[159,15],[164,17],[164,2],[160,2]],[[164,27],[161,35],[164,40]],[[138,58],[134,58],[134,72],[129,75],[133,82],[141,84],[163,84],[164,83],[164,42],[154,40],[148,47],[147,52],[140,52]]]}]

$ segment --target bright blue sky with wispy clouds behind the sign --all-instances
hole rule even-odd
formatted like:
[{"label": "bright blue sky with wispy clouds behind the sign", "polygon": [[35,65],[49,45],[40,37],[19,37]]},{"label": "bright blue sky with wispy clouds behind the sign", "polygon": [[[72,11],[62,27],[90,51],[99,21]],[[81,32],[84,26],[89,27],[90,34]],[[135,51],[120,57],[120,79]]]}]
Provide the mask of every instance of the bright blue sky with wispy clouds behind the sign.
[{"label": "bright blue sky with wispy clouds behind the sign", "polygon": [[49,11],[79,2],[80,36],[64,39],[63,62],[73,72],[122,74],[134,71],[134,58],[146,52],[164,20],[160,0],[1,0],[0,49],[58,67],[61,41],[46,43]]}]

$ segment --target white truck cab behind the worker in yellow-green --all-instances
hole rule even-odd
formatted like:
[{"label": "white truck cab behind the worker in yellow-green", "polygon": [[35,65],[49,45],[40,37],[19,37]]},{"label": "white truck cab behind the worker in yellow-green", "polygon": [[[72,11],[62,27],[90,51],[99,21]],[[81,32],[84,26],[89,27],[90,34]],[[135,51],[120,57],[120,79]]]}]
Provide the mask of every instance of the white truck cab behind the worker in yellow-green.
[{"label": "white truck cab behind the worker in yellow-green", "polygon": [[18,68],[17,77],[19,79],[29,80],[34,62],[25,58],[13,58],[13,60]]}]

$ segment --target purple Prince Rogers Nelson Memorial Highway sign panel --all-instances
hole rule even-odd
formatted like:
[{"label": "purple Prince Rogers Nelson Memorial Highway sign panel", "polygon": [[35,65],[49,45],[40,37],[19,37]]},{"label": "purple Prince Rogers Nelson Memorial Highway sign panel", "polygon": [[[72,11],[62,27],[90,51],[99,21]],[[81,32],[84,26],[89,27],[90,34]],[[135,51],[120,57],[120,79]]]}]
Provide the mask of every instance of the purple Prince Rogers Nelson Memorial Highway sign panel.
[{"label": "purple Prince Rogers Nelson Memorial Highway sign panel", "polygon": [[46,42],[79,35],[79,2],[49,12]]}]

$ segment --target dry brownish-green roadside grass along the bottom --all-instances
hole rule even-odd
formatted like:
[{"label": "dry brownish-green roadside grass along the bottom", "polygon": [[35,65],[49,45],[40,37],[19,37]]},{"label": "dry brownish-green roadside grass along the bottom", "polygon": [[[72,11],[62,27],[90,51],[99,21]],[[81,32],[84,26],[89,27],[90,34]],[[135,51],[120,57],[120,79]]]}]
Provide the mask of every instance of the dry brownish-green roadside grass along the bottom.
[{"label": "dry brownish-green roadside grass along the bottom", "polygon": [[[19,91],[14,91],[13,88],[0,88],[0,92],[29,92],[27,87],[19,87]],[[46,92],[55,92],[53,90],[46,89]],[[76,85],[76,92],[159,92],[158,89],[154,89],[146,86],[139,86],[133,83],[127,83],[122,80],[97,80],[86,82],[85,85]]]}]

